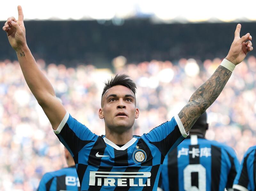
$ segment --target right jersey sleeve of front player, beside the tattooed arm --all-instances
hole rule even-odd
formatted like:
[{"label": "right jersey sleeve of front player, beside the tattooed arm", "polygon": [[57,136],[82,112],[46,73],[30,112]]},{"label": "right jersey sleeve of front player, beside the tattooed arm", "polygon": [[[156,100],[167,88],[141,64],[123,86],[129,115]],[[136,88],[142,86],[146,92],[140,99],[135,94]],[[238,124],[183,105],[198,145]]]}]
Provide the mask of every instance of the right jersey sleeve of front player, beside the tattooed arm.
[{"label": "right jersey sleeve of front player, beside the tattooed arm", "polygon": [[152,129],[148,134],[141,137],[155,145],[162,155],[168,154],[173,148],[176,148],[186,137],[186,133],[178,115],[171,121],[167,121],[160,126]]}]

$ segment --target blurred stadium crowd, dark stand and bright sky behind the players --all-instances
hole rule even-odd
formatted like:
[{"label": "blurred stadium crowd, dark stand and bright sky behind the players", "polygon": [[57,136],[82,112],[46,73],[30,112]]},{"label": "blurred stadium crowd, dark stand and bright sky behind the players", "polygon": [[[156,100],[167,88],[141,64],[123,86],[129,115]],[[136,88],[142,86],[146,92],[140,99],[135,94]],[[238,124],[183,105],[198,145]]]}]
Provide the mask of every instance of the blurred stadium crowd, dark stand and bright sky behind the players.
[{"label": "blurred stadium crowd, dark stand and bright sky behind the players", "polygon": [[[231,4],[232,2],[232,4]],[[18,17],[1,2],[0,24]],[[256,15],[236,1],[73,0],[22,4],[28,46],[67,111],[95,134],[104,81],[127,73],[137,83],[134,134],[170,120],[228,54],[236,24],[256,36]],[[243,9],[241,9],[241,7]],[[5,32],[0,35],[0,190],[36,190],[45,172],[66,166],[63,146],[30,93]],[[256,53],[238,65],[207,110],[207,138],[241,160],[256,144]]]}]

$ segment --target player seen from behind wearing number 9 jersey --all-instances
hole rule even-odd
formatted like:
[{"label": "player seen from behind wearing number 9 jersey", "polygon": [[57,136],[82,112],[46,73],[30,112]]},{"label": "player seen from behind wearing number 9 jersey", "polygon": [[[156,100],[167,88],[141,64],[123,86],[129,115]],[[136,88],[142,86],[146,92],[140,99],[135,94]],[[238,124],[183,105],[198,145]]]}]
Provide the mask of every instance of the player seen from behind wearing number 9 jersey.
[{"label": "player seen from behind wearing number 9 jersey", "polygon": [[233,149],[204,138],[208,129],[206,113],[190,135],[165,157],[159,187],[164,191],[223,191],[231,189],[239,162]]}]

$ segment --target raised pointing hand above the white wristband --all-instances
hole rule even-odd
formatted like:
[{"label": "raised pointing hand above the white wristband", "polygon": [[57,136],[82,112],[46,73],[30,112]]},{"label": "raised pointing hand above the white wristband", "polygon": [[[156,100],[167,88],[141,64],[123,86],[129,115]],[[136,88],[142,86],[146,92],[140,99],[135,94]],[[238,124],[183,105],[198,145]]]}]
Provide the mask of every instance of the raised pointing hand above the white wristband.
[{"label": "raised pointing hand above the white wristband", "polygon": [[231,44],[228,56],[226,59],[232,62],[234,65],[238,65],[244,60],[247,53],[253,50],[252,47],[252,36],[250,33],[245,34],[240,38],[241,24],[236,26],[235,38]]}]

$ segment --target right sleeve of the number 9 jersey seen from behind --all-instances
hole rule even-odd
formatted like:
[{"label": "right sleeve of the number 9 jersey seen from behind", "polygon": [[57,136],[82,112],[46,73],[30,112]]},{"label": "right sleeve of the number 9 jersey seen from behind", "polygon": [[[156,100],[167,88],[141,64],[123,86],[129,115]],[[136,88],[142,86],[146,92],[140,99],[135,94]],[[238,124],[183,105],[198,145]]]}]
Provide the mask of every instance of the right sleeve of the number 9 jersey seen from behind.
[{"label": "right sleeve of the number 9 jersey seen from behind", "polygon": [[239,170],[240,163],[237,159],[236,152],[232,148],[229,148],[227,150],[227,153],[228,153],[228,157],[229,157],[231,166],[230,166],[230,171],[228,173],[228,180],[227,180],[226,188],[230,189],[233,187],[233,182],[234,182],[234,180],[236,178],[236,174]]}]

